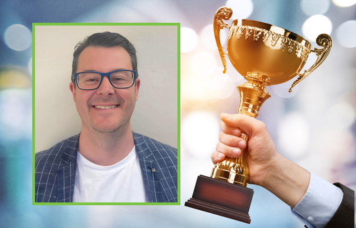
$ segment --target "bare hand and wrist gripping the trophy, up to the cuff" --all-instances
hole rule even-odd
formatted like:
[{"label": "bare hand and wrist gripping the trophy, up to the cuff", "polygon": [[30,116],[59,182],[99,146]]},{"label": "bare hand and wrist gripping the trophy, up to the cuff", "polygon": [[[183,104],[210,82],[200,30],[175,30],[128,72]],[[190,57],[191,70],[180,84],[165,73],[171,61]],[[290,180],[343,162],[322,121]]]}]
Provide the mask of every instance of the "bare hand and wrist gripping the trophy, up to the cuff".
[{"label": "bare hand and wrist gripping the trophy, up to the cuff", "polygon": [[[248,147],[249,183],[264,187],[293,208],[308,189],[310,173],[278,153],[263,122],[242,114],[222,113],[220,117],[222,132],[217,151],[211,155],[213,163],[225,156],[238,158],[241,149]],[[240,137],[241,132],[249,135],[248,142]]]}]

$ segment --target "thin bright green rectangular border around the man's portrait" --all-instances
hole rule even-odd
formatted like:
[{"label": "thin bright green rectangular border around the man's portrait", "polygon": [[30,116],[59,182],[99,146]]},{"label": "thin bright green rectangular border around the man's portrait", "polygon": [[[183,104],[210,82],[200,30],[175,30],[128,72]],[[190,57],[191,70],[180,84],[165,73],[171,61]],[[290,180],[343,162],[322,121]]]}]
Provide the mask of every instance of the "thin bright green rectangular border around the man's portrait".
[{"label": "thin bright green rectangular border around the man's portrait", "polygon": [[[177,150],[178,150],[178,178],[177,202],[35,202],[35,26],[177,26]],[[180,149],[180,75],[181,75],[181,47],[180,23],[33,23],[32,24],[32,204],[33,205],[180,205],[181,201],[181,149]]]}]

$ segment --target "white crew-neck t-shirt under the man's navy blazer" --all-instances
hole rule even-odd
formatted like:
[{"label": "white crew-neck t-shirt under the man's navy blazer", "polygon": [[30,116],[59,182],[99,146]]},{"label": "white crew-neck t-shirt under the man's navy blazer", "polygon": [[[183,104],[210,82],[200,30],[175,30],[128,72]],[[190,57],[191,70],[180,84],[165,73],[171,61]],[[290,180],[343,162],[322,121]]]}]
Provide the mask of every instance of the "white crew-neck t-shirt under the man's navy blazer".
[{"label": "white crew-neck t-shirt under the man's navy blazer", "polygon": [[148,202],[136,149],[103,167],[77,152],[73,202]]}]

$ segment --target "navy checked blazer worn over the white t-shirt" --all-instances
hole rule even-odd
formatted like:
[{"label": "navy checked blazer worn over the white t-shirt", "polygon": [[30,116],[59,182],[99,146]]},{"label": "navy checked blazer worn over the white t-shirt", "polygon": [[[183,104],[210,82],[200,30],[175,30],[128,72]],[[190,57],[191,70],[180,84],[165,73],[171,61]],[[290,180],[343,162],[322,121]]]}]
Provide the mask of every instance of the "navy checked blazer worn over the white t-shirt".
[{"label": "navy checked blazer worn over the white t-shirt", "polygon": [[[177,202],[177,149],[132,132],[149,202]],[[79,135],[35,155],[35,201],[73,202]]]}]

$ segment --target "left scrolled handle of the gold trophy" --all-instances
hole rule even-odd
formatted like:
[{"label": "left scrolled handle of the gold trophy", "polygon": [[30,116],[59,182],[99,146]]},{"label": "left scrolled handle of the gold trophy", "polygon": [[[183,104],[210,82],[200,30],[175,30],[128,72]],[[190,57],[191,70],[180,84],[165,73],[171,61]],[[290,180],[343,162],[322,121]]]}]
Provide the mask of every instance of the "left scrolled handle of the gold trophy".
[{"label": "left scrolled handle of the gold trophy", "polygon": [[220,30],[223,28],[227,28],[230,30],[229,24],[224,23],[222,19],[229,20],[232,15],[233,15],[233,10],[231,10],[231,8],[229,7],[223,6],[217,10],[214,16],[214,23],[213,23],[214,36],[215,36],[215,41],[216,41],[217,49],[219,50],[222,64],[224,65],[224,71],[222,71],[223,73],[226,73],[225,55],[227,55],[227,53],[224,52],[224,47],[222,47],[220,42]]}]

